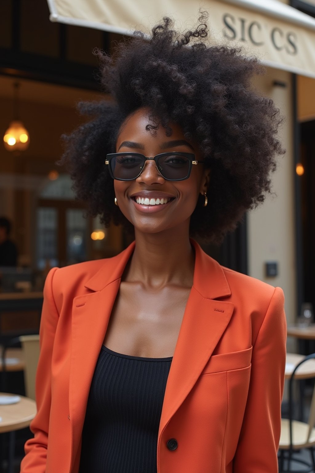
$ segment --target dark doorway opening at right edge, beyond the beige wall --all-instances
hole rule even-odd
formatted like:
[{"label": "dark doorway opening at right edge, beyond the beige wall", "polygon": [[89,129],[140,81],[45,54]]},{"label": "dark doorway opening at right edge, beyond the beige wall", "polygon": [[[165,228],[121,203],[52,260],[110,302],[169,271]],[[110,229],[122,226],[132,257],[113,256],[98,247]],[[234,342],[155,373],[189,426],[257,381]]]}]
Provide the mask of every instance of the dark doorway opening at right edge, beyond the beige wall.
[{"label": "dark doorway opening at right edge, beyond the beige wall", "polygon": [[302,302],[315,307],[315,120],[300,124],[303,289]]}]

